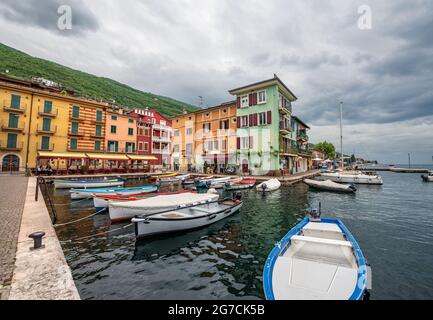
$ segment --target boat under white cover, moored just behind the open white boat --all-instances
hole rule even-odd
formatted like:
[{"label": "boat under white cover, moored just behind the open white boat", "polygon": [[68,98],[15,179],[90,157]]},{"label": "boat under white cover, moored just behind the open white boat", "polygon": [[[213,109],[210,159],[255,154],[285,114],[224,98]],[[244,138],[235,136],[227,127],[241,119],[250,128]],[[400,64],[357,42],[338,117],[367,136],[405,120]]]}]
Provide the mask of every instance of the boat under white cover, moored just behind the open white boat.
[{"label": "boat under white cover, moored just behind the open white boat", "polygon": [[156,196],[129,202],[108,202],[108,211],[112,221],[131,219],[143,214],[152,214],[164,210],[174,210],[181,205],[192,205],[201,201],[216,201],[218,194],[182,193]]}]

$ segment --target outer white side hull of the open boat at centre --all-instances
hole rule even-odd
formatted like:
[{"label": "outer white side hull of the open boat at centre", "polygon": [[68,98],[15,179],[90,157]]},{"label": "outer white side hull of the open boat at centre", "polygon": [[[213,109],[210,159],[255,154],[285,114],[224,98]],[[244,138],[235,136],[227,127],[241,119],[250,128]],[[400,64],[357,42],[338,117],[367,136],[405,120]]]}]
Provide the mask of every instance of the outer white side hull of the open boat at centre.
[{"label": "outer white side hull of the open boat at centre", "polygon": [[133,219],[135,234],[137,238],[144,238],[158,234],[173,233],[185,230],[203,228],[225,219],[242,208],[242,203],[229,209],[215,213],[211,217],[203,216],[198,218],[185,219],[161,219],[149,217],[148,219]]}]

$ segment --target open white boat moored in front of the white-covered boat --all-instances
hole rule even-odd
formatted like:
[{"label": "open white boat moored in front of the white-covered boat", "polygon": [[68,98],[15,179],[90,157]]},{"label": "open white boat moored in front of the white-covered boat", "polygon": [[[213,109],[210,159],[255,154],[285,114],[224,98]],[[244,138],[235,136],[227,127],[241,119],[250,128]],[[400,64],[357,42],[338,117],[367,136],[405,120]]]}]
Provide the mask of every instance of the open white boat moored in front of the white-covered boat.
[{"label": "open white boat moored in front of the white-covered boat", "polygon": [[137,216],[132,219],[132,222],[135,224],[137,238],[143,238],[156,234],[202,228],[233,215],[241,208],[242,201],[240,199],[205,200],[164,212]]}]

